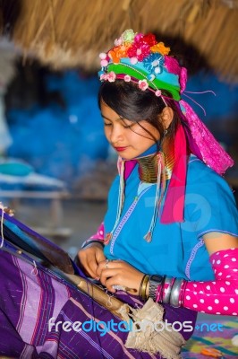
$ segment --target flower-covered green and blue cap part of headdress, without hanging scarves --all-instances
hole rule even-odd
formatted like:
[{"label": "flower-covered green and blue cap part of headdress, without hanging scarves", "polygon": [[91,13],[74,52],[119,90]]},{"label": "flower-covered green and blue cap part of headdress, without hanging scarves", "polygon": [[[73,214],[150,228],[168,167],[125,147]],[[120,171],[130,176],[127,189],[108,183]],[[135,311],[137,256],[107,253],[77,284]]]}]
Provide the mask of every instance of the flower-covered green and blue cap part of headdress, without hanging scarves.
[{"label": "flower-covered green and blue cap part of headdress, without hanging scarves", "polygon": [[[174,100],[179,101],[181,86],[177,74],[171,68],[185,68],[177,66],[173,57],[167,57],[170,48],[163,42],[157,42],[155,35],[143,35],[126,30],[119,39],[115,39],[115,47],[107,53],[99,55],[102,69],[98,73],[101,81],[115,82],[123,79],[125,82],[138,83],[140,90],[149,89],[157,96],[161,90],[172,94]],[[177,69],[176,69],[177,67]],[[186,76],[186,70],[184,72]]]}]

